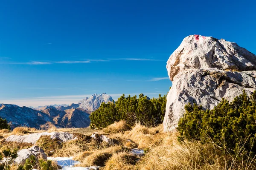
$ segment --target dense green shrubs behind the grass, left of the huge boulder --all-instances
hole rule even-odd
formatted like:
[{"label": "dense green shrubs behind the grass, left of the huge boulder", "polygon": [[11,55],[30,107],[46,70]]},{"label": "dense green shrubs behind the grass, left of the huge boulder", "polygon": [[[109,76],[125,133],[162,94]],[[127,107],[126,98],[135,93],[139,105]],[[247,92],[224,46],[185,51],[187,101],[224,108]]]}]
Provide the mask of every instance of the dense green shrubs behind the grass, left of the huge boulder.
[{"label": "dense green shrubs behind the grass, left of the huge boulder", "polygon": [[125,97],[123,94],[117,102],[102,103],[99,109],[90,114],[91,128],[104,128],[114,122],[125,120],[129,125],[140,122],[146,126],[156,126],[163,122],[166,111],[166,96],[148,99],[140,94]]}]

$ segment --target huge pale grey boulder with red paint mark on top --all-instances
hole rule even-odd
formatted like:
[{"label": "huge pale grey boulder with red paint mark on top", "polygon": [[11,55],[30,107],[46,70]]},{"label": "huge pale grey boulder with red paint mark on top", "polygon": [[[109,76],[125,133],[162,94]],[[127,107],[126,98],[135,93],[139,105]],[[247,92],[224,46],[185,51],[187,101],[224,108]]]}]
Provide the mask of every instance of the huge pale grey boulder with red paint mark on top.
[{"label": "huge pale grey boulder with red paint mark on top", "polygon": [[172,81],[164,131],[177,127],[190,103],[212,109],[222,98],[232,101],[256,90],[256,56],[234,42],[190,35],[173,52],[166,68]]}]

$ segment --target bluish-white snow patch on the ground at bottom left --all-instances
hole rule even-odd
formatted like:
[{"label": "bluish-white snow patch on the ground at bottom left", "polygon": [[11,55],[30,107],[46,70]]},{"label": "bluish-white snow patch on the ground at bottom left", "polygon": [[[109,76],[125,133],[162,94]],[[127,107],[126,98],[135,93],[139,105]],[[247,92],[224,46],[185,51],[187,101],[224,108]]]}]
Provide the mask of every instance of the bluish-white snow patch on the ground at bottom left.
[{"label": "bluish-white snow patch on the ground at bottom left", "polygon": [[76,164],[80,164],[80,161],[73,160],[73,157],[48,157],[48,160],[56,161],[63,170],[90,170],[89,167],[74,167]]}]

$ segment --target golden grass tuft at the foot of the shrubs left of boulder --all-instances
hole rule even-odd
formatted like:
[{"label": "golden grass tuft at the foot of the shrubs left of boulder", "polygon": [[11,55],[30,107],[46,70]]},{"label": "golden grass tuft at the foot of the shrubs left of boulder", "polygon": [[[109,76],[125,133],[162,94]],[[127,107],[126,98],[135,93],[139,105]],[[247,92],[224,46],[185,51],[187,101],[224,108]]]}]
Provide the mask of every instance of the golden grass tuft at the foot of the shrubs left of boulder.
[{"label": "golden grass tuft at the foot of the shrubs left of boulder", "polygon": [[121,120],[119,122],[115,122],[112,125],[109,125],[103,131],[105,133],[119,133],[131,130],[131,127],[126,123],[125,120]]}]

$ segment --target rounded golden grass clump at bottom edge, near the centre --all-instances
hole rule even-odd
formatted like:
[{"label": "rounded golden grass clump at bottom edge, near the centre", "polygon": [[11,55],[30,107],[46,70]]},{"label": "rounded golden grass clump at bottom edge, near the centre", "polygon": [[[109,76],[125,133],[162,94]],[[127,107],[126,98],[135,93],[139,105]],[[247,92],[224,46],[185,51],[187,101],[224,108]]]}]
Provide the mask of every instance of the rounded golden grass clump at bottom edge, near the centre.
[{"label": "rounded golden grass clump at bottom edge, near the centre", "polygon": [[139,158],[127,152],[114,153],[105,163],[105,170],[134,170]]}]

